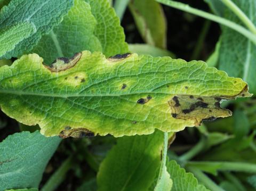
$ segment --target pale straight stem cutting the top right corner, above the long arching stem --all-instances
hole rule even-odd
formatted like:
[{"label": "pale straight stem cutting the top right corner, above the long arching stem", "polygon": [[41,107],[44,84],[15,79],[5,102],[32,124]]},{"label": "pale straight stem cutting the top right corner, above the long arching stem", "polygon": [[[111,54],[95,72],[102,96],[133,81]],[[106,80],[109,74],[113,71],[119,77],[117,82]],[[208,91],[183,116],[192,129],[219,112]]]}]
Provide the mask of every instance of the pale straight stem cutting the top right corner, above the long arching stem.
[{"label": "pale straight stem cutting the top right corner, above the long arching stem", "polygon": [[244,14],[244,12],[236,6],[231,0],[221,0],[237,17],[245,24],[245,26],[253,33],[256,34],[256,27],[252,21]]}]

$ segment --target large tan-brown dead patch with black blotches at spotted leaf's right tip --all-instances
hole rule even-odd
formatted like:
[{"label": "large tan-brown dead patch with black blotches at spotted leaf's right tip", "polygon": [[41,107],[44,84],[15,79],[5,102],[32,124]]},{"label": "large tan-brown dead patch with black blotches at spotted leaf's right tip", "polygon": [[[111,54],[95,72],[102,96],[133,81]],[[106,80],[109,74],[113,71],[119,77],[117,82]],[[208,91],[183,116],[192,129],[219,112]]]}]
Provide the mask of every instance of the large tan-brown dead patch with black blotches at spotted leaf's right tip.
[{"label": "large tan-brown dead patch with black blotches at spotted leaf's right tip", "polygon": [[175,95],[168,102],[171,115],[175,119],[194,120],[199,126],[203,120],[215,120],[218,117],[228,117],[231,112],[220,107],[222,99],[231,99],[232,96],[196,96]]}]

